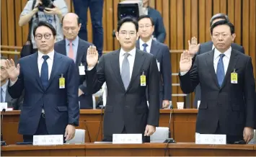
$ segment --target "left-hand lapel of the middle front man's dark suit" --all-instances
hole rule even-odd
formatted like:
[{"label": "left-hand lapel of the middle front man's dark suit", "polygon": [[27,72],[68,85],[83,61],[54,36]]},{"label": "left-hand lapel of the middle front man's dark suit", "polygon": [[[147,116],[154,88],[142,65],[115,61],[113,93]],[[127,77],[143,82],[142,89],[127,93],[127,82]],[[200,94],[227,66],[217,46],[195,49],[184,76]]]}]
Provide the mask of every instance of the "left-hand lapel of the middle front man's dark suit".
[{"label": "left-hand lapel of the middle front man's dark suit", "polygon": [[120,54],[120,49],[112,53],[113,56],[111,60],[111,66],[112,66],[112,71],[115,73],[115,77],[118,81],[118,84],[120,84],[120,87],[123,89],[123,91],[125,91],[125,86],[123,85],[123,81],[120,74],[119,54]]}]

